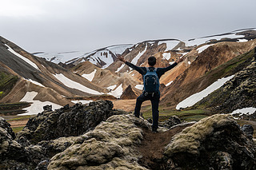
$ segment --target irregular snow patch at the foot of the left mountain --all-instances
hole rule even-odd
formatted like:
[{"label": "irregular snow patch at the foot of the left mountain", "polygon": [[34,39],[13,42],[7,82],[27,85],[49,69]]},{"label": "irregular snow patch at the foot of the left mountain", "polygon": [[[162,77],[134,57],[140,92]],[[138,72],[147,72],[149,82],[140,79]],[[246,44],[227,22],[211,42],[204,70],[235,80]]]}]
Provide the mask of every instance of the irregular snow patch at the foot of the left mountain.
[{"label": "irregular snow patch at the foot of the left mountain", "polygon": [[26,108],[27,113],[18,114],[18,116],[34,115],[34,114],[42,113],[43,106],[45,105],[52,105],[53,110],[60,109],[62,107],[61,105],[57,105],[50,101],[34,101],[34,97],[36,97],[37,95],[38,95],[37,92],[26,93],[26,95],[22,98],[21,101],[33,102],[33,104],[31,104],[30,107]]}]

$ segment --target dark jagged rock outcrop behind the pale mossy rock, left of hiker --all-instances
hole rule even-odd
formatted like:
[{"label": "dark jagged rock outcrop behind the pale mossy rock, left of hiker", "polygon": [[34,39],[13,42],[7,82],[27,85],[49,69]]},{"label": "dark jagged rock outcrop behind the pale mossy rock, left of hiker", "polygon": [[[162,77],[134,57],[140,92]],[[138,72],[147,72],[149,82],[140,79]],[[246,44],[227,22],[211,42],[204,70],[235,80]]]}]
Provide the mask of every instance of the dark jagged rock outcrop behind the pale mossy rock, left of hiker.
[{"label": "dark jagged rock outcrop behind the pale mossy rock, left of hiker", "polygon": [[[36,117],[30,118],[26,127],[17,134],[17,140],[29,140],[31,144],[37,144],[42,140],[54,140],[63,136],[80,136],[94,128],[101,121],[114,114],[111,101],[94,101],[89,105],[69,105],[55,111],[48,111],[46,108]],[[25,141],[26,141],[25,140]]]}]

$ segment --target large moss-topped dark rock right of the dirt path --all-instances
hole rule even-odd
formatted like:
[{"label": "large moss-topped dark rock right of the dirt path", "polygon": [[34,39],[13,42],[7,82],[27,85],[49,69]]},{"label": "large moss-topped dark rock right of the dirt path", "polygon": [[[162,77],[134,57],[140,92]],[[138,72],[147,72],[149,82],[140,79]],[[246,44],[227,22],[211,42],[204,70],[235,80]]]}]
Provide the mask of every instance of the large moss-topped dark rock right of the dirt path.
[{"label": "large moss-topped dark rock right of the dirt path", "polygon": [[255,169],[254,142],[229,115],[206,117],[176,134],[164,152],[182,168]]}]

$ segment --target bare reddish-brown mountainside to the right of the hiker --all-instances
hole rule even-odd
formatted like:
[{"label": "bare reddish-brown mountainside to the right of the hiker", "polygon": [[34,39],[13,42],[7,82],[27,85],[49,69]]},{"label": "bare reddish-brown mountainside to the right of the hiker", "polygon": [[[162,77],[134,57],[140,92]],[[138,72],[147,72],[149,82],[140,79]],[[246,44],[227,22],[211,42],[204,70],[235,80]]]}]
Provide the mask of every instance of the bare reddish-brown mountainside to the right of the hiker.
[{"label": "bare reddish-brown mountainside to the right of the hiker", "polygon": [[[255,45],[255,40],[239,43],[220,42],[211,45],[199,53],[190,67],[163,91],[162,105],[175,107],[179,102],[206,89],[218,79],[240,71],[246,64],[243,67],[239,64],[247,63],[246,59],[251,57],[250,55],[241,55],[241,53],[254,49]],[[235,69],[236,67],[238,68]]]}]

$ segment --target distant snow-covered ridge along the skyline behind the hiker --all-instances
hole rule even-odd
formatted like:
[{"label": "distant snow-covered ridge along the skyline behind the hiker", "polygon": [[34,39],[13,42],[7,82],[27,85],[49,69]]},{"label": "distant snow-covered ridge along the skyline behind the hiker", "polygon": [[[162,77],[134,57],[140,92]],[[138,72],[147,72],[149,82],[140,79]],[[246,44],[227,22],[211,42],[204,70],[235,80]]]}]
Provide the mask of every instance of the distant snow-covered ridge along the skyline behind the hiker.
[{"label": "distant snow-covered ridge along the skyline behind the hiker", "polygon": [[[255,31],[255,28],[251,29],[243,29],[243,30],[235,30],[230,33],[226,34],[217,34],[212,36],[206,36],[203,38],[193,38],[190,40],[178,40],[178,39],[160,39],[160,40],[150,40],[145,42],[139,42],[135,45],[133,44],[127,44],[127,45],[111,45],[102,49],[94,50],[90,53],[86,52],[60,52],[60,53],[35,53],[38,57],[44,57],[47,61],[52,61],[56,64],[62,62],[66,65],[78,65],[78,63],[81,63],[83,61],[90,61],[94,65],[97,65],[98,67],[102,69],[106,69],[108,66],[110,66],[114,61],[116,61],[116,53],[122,54],[124,52],[125,55],[128,53],[131,53],[133,50],[138,50],[138,47],[140,44],[148,44],[148,46],[140,51],[140,53],[137,53],[136,56],[134,56],[133,60],[134,64],[137,64],[136,61],[142,56],[143,53],[146,53],[147,49],[151,49],[153,45],[154,48],[156,46],[165,44],[166,48],[162,49],[162,52],[166,52],[166,56],[168,56],[168,51],[176,50],[177,53],[182,53],[185,55],[186,51],[184,50],[191,50],[194,47],[197,47],[199,45],[203,44],[212,44],[216,42],[246,42],[250,39],[254,39],[254,35],[248,34],[250,31]],[[206,48],[208,46],[205,46]],[[202,52],[202,49],[198,49],[199,53]],[[117,71],[117,70],[115,70]],[[118,71],[117,71],[118,72]]]}]

